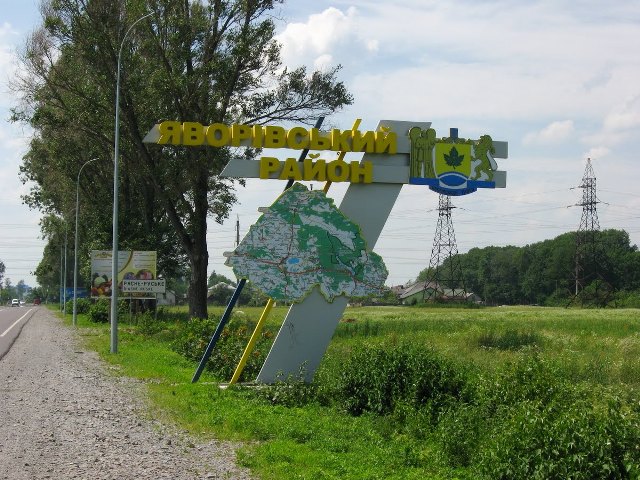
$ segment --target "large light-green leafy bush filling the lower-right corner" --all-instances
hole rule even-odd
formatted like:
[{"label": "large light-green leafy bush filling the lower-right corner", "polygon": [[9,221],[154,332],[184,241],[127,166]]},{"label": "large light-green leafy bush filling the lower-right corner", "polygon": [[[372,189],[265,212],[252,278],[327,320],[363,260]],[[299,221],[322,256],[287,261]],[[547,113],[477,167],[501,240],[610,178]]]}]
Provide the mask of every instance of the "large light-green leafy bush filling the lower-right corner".
[{"label": "large light-green leafy bush filling the lower-right corner", "polygon": [[[445,460],[492,479],[625,479],[640,471],[640,409],[527,356],[476,376],[435,434]],[[635,408],[635,410],[634,410]],[[635,472],[635,473],[634,473]]]}]

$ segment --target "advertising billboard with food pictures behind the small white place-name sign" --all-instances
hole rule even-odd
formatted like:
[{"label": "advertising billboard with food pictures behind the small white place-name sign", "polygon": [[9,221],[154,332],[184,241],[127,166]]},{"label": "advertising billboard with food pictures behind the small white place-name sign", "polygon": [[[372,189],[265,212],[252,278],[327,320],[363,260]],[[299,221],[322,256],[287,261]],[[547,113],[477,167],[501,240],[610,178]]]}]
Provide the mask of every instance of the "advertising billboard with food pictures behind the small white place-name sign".
[{"label": "advertising billboard with food pictures behind the small white place-name sign", "polygon": [[[91,251],[91,297],[111,297],[112,281],[111,250]],[[123,280],[153,280],[156,278],[156,251],[120,251],[118,252],[118,296],[123,298],[152,298],[151,293],[122,292]]]}]

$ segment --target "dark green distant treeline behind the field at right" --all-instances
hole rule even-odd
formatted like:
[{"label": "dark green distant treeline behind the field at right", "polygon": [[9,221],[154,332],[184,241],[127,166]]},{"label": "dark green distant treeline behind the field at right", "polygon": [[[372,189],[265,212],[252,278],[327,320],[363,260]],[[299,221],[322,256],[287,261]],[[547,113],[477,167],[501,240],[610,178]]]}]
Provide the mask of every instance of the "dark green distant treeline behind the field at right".
[{"label": "dark green distant treeline behind the field at right", "polygon": [[[593,233],[588,245],[593,248],[587,249],[581,262],[581,289],[588,291],[594,281],[601,282],[611,289],[611,299],[618,304],[640,306],[638,247],[630,244],[624,230]],[[560,305],[575,294],[575,253],[576,232],[569,232],[524,247],[472,248],[457,258],[465,289],[480,295],[487,305]],[[441,265],[441,272],[451,270],[450,261]],[[428,268],[418,275],[419,281],[429,278]],[[440,278],[444,285],[451,283],[450,279]]]}]

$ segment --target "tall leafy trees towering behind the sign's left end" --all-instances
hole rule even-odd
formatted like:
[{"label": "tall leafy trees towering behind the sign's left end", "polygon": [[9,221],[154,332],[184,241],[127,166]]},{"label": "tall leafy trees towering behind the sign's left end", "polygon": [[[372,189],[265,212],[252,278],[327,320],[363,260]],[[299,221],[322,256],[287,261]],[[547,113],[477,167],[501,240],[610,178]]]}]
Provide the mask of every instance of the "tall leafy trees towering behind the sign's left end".
[{"label": "tall leafy trees towering behind the sign's left end", "polygon": [[[105,159],[95,172],[95,194],[111,203],[104,180],[121,51],[121,245],[153,248],[164,240],[169,255],[178,243],[188,261],[193,316],[207,315],[207,218],[222,222],[236,200],[234,182],[219,174],[232,155],[259,152],[161,148],[142,142],[146,132],[163,119],[312,123],[352,101],[336,79],[338,67],[283,68],[271,14],[279,3],[46,0],[43,29],[27,44],[28,75],[18,84],[26,101],[14,115],[36,131],[23,165],[23,178],[36,184],[26,201],[64,212],[81,161],[94,155]],[[105,210],[92,207],[103,241],[110,225]]]}]

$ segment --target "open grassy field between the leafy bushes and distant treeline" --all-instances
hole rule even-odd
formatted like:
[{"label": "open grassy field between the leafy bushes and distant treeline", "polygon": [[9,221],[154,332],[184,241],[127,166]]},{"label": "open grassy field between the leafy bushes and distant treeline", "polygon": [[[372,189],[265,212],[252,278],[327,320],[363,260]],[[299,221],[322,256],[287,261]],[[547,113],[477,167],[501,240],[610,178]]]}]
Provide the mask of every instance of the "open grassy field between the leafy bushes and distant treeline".
[{"label": "open grassy field between the leafy bushes and distant treeline", "polygon": [[355,322],[340,325],[330,351],[363,337],[411,339],[485,369],[534,351],[561,362],[576,380],[640,385],[638,309],[369,307],[347,310],[348,318]]}]

